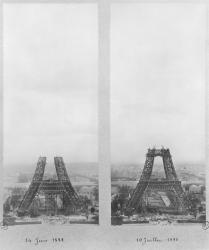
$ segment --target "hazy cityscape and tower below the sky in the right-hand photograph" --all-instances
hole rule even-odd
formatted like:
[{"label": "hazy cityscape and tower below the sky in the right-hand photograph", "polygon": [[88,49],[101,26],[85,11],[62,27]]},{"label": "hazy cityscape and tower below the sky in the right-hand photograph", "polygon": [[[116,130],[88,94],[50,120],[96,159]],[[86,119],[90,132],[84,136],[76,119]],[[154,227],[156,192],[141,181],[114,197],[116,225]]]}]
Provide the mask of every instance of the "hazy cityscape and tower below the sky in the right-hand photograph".
[{"label": "hazy cityscape and tower below the sky in the right-hand photograph", "polygon": [[[158,152],[162,150],[164,149]],[[147,158],[149,151],[157,150],[149,149]],[[160,154],[155,156],[162,156]],[[146,176],[149,171],[149,159],[144,166],[112,165],[112,225],[204,223],[206,220],[204,164],[183,163],[176,166],[174,163],[175,169],[172,170],[175,177],[172,179],[172,175],[169,177],[167,169],[169,167],[165,166],[166,163],[154,164],[155,156],[150,163],[149,176]],[[172,160],[171,165],[173,165]]]}]

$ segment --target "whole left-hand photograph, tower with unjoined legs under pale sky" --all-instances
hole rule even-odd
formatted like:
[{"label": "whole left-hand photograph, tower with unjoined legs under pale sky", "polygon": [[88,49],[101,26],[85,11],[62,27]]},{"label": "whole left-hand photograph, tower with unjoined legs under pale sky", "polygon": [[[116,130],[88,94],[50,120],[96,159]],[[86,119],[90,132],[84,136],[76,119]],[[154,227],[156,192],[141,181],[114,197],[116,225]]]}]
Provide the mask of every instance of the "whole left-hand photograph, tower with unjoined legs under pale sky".
[{"label": "whole left-hand photograph, tower with unjoined legs under pale sky", "polygon": [[98,224],[96,4],[3,5],[4,224]]}]

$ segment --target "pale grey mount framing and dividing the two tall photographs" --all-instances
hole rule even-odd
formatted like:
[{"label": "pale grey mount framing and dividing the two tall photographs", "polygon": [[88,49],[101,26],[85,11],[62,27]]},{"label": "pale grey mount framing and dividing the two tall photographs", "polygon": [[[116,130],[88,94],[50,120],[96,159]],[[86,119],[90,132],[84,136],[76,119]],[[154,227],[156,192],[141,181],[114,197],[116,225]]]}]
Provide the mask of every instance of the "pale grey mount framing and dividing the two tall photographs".
[{"label": "pale grey mount framing and dividing the two tall photographs", "polygon": [[[206,7],[206,52],[205,52],[205,152],[206,152],[206,191],[209,190],[209,0],[1,0],[0,3],[0,195],[1,218],[3,220],[3,5],[4,4],[97,4],[98,6],[98,165],[99,165],[99,226],[15,226],[0,230],[0,240],[4,249],[27,249],[25,238],[29,234],[36,237],[44,232],[45,237],[62,233],[66,238],[63,248],[71,249],[139,249],[136,237],[175,236],[182,237],[181,244],[162,245],[161,249],[207,249],[209,230],[201,226],[111,226],[111,157],[110,157],[110,9],[112,3],[164,3],[164,4],[204,4]],[[207,196],[207,195],[206,195]],[[207,220],[209,220],[209,199],[206,199]],[[185,231],[187,230],[187,231]],[[16,241],[15,243],[12,240]],[[203,245],[202,245],[203,244]],[[1,244],[2,245],[2,244]],[[44,246],[45,249],[50,249]],[[146,246],[145,246],[146,247]],[[147,249],[157,247],[153,244]]]}]

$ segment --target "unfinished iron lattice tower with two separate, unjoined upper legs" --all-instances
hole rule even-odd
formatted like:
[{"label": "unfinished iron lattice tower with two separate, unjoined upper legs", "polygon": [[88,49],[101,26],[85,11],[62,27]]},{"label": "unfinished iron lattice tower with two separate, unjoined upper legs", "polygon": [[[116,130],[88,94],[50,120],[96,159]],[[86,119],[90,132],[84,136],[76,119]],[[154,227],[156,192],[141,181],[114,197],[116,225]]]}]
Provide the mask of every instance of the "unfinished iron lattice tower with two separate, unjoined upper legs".
[{"label": "unfinished iron lattice tower with two separate, unjoined upper legs", "polygon": [[65,203],[76,209],[80,205],[79,197],[71,185],[62,157],[54,157],[58,180],[43,180],[46,157],[40,157],[32,182],[21,201],[18,214],[25,214],[30,208],[36,194],[44,193],[47,197],[56,194],[65,195]]}]

